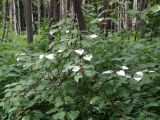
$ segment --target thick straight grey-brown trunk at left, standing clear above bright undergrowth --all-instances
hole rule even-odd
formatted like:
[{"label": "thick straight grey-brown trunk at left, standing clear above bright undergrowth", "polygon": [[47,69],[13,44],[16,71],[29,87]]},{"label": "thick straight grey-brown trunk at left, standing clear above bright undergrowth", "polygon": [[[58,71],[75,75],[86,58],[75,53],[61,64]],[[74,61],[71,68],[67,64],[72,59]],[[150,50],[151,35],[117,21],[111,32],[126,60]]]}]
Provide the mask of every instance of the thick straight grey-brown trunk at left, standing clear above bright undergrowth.
[{"label": "thick straight grey-brown trunk at left, standing clear above bright undergrowth", "polygon": [[33,42],[32,0],[24,0],[24,11],[27,26],[28,43]]}]

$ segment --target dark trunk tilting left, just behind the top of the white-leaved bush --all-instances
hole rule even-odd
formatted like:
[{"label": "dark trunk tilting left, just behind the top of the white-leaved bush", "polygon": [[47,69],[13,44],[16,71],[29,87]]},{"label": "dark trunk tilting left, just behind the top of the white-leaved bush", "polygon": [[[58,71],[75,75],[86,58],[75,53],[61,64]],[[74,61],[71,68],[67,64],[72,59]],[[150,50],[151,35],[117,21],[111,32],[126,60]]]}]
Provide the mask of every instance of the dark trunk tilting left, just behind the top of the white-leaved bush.
[{"label": "dark trunk tilting left, just behind the top of the white-leaved bush", "polygon": [[80,31],[84,31],[86,30],[86,24],[81,7],[82,0],[73,0],[73,2],[74,2],[74,11],[78,19]]}]

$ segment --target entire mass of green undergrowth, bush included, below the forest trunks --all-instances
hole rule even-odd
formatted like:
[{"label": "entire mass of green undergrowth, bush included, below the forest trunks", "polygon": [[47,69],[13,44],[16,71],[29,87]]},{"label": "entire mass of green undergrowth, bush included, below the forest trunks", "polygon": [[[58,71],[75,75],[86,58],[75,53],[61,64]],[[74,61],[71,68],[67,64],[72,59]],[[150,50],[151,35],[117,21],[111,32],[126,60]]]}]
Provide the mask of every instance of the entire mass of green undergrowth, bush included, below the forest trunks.
[{"label": "entire mass of green undergrowth, bush included, below the forest trunks", "polygon": [[159,6],[128,11],[142,27],[107,37],[89,10],[84,32],[65,18],[27,44],[10,29],[0,42],[1,120],[160,120]]}]

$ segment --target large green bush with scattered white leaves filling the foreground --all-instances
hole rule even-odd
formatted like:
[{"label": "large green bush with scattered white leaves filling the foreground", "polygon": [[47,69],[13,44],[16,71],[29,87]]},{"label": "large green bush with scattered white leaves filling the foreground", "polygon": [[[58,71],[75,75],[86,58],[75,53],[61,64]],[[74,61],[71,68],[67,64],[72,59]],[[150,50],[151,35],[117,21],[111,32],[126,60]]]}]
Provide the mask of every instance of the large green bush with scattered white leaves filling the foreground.
[{"label": "large green bush with scattered white leaves filling the foreground", "polygon": [[5,86],[3,119],[158,120],[160,43],[118,33],[80,41],[75,34],[62,33],[48,53],[16,56],[18,77]]}]

